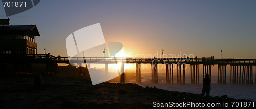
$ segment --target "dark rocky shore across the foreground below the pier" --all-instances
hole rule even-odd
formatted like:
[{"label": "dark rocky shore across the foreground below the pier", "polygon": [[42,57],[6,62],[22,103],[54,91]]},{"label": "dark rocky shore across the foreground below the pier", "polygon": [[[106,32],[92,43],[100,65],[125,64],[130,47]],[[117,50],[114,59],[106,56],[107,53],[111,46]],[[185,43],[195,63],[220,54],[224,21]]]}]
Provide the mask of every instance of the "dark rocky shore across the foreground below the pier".
[{"label": "dark rocky shore across the foreground below the pier", "polygon": [[[232,107],[231,102],[251,102],[245,99],[210,97],[208,102],[198,101],[200,94],[143,88],[137,84],[101,83],[79,77],[42,77],[41,87],[34,87],[33,77],[2,77],[0,80],[0,108],[209,108],[175,107],[176,103],[218,104],[210,108]],[[228,107],[224,107],[229,103]],[[170,107],[172,104],[172,107]],[[161,107],[165,106],[165,107]],[[248,106],[248,105],[247,105]]]}]

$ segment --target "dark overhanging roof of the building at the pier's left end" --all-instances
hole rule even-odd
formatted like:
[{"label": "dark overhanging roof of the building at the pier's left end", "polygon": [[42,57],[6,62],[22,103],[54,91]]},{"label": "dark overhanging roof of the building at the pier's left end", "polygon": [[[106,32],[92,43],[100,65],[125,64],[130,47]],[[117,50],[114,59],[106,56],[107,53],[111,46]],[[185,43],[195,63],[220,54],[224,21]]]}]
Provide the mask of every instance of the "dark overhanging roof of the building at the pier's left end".
[{"label": "dark overhanging roof of the building at the pier's left end", "polygon": [[30,31],[34,36],[40,36],[36,25],[5,25],[0,26],[0,31]]}]

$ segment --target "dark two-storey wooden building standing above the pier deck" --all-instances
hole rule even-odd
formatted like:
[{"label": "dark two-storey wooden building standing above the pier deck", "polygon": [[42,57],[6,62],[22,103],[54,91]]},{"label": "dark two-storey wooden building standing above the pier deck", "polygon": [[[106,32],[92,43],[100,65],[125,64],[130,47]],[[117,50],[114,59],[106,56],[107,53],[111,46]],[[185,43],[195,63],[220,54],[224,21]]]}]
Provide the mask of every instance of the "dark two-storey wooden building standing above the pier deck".
[{"label": "dark two-storey wooden building standing above the pier deck", "polygon": [[0,26],[1,54],[37,54],[36,36],[36,25]]}]

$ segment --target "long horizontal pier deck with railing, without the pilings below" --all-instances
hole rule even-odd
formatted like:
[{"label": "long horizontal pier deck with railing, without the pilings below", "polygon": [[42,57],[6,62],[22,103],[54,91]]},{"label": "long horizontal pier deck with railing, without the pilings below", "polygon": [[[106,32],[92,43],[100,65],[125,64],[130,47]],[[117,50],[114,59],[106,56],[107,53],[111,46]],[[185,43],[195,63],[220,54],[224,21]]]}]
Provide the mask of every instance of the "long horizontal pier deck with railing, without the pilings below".
[{"label": "long horizontal pier deck with railing, without the pilings below", "polygon": [[69,63],[69,62],[124,62],[124,63],[187,63],[187,64],[232,64],[232,63],[249,63],[256,64],[256,59],[212,59],[212,58],[103,58],[103,57],[55,57],[50,54],[9,54],[0,55],[1,61],[42,61],[48,60],[55,63]]}]

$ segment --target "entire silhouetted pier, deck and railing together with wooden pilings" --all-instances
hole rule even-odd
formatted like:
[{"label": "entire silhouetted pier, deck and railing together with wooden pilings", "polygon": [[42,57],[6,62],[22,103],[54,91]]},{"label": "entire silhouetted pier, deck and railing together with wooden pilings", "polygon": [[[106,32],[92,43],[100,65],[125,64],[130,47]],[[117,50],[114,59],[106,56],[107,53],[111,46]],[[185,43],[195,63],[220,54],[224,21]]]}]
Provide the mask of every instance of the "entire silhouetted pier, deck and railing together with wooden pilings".
[{"label": "entire silhouetted pier, deck and railing together with wooden pilings", "polygon": [[[177,83],[185,84],[186,66],[190,64],[191,83],[199,83],[199,65],[203,65],[203,76],[209,74],[211,67],[218,65],[218,83],[227,83],[227,69],[230,66],[230,83],[253,83],[253,66],[256,66],[256,59],[214,59],[214,58],[102,58],[102,57],[55,57],[50,54],[19,54],[1,55],[1,63],[45,63],[46,71],[57,72],[57,63],[95,63],[105,64],[105,72],[108,72],[108,64],[122,63],[120,68],[124,72],[124,64],[136,64],[136,82],[141,82],[141,64],[151,64],[152,83],[158,83],[158,64],[166,66],[166,83],[174,83],[174,65],[177,66]],[[81,71],[80,71],[81,72]],[[255,77],[256,78],[256,77]],[[124,73],[121,75],[121,82],[124,82]],[[255,80],[256,82],[256,80]]]}]

